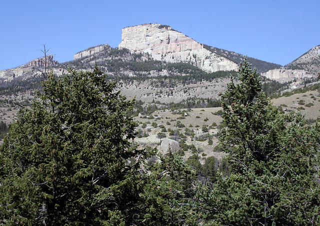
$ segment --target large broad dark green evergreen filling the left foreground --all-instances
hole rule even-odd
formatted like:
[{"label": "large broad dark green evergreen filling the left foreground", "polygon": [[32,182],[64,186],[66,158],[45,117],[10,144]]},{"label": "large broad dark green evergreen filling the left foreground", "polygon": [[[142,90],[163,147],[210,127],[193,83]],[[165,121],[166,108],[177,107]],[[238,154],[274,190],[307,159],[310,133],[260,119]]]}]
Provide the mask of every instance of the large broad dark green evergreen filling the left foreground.
[{"label": "large broad dark green evergreen filling the left foreground", "polygon": [[95,65],[42,83],[0,148],[0,225],[130,225],[145,152],[133,101]]}]

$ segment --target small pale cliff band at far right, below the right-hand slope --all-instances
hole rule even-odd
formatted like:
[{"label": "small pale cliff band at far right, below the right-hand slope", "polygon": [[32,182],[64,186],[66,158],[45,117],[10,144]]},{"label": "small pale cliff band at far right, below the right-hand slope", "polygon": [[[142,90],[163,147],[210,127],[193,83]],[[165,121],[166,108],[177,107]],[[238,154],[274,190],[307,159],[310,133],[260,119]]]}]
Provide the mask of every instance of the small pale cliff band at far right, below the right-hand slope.
[{"label": "small pale cliff band at far right, below the right-hand slope", "polygon": [[262,73],[261,75],[269,79],[276,79],[282,82],[290,81],[293,79],[305,79],[312,77],[312,74],[305,70],[292,70],[285,68],[268,70],[267,72]]}]

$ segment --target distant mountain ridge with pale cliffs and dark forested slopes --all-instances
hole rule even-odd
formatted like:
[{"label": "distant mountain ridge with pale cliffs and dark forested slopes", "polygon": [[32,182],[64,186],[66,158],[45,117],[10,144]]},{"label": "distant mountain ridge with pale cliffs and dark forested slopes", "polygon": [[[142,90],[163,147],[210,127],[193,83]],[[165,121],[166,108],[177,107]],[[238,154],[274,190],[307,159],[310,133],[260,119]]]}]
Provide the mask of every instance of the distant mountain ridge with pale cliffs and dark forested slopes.
[{"label": "distant mountain ridge with pale cliffs and dark forested slopes", "polygon": [[[320,71],[319,49],[320,46],[316,46],[283,67],[252,57],[247,57],[247,60],[266,77],[263,89],[273,93],[286,87],[293,79],[314,81]],[[52,55],[46,57],[47,65],[44,65],[42,57],[0,71],[0,95],[39,89],[39,75],[45,66],[49,66],[54,74],[62,75],[67,73],[68,67],[92,70],[95,62],[107,79],[118,79],[124,83],[138,81],[141,84],[152,80],[154,88],[172,89],[178,84],[189,86],[202,81],[214,81],[216,85],[224,86],[217,79],[235,76],[239,63],[245,58],[239,53],[198,43],[170,26],[159,23],[123,28],[121,43],[117,48],[108,44],[97,45],[76,53],[73,60],[64,63],[53,60]],[[213,99],[217,98],[218,92],[212,91]],[[191,92],[189,95],[192,98],[207,98],[209,94],[197,97]],[[185,96],[184,99],[187,98]]]}]

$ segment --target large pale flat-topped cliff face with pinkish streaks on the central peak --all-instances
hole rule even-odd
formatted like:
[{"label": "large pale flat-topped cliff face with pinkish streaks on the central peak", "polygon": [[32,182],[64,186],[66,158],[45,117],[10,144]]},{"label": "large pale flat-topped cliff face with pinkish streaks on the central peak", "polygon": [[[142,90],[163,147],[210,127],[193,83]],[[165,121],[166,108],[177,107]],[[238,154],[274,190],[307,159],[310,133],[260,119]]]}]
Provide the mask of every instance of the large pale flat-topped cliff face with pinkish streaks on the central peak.
[{"label": "large pale flat-topped cliff face with pinkish streaks on the central peak", "polygon": [[186,35],[159,23],[122,29],[119,47],[149,53],[155,60],[192,63],[207,72],[236,70],[237,64],[212,53]]}]

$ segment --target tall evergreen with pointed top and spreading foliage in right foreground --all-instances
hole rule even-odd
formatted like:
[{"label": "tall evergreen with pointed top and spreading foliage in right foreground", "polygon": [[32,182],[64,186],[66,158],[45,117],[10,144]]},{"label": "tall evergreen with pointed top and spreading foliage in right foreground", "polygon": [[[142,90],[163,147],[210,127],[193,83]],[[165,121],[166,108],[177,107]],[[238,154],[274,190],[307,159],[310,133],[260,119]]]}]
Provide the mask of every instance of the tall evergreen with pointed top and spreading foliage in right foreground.
[{"label": "tall evergreen with pointed top and spreading foliage in right foreground", "polygon": [[220,142],[231,172],[203,188],[208,225],[320,224],[319,126],[279,113],[246,59],[238,82],[231,81],[222,98],[226,126]]}]

